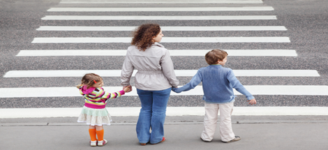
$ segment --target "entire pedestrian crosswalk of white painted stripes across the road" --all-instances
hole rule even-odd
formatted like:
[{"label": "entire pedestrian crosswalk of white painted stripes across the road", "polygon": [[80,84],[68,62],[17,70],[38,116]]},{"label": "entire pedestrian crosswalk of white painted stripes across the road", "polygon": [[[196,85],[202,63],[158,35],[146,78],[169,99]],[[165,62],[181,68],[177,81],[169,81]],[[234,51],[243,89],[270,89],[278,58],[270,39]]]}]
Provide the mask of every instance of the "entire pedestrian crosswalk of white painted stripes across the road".
[{"label": "entire pedestrian crosswalk of white painted stripes across the road", "polygon": [[[72,7],[74,4],[100,4],[99,7],[95,7],[93,5],[92,7]],[[149,3],[188,3],[190,5],[194,4],[193,7],[104,7],[101,6],[101,4],[106,4],[107,6],[110,4],[117,4],[117,3],[143,3],[144,5],[147,5]],[[238,4],[239,6],[228,6],[228,7],[197,7],[197,4],[218,4],[218,3],[228,3],[228,4]],[[70,7],[66,7],[65,5],[69,4]],[[243,4],[247,4],[248,6],[240,6]],[[262,6],[250,6],[251,4],[261,4]],[[244,22],[247,20],[257,20],[257,21],[265,21],[265,20],[278,20],[278,17],[276,15],[261,15],[261,12],[274,12],[274,8],[271,6],[263,6],[263,1],[261,0],[231,0],[231,1],[211,1],[211,0],[175,0],[175,1],[151,1],[151,0],[123,0],[123,1],[112,1],[112,0],[97,0],[97,1],[87,1],[87,0],[61,0],[59,3],[59,6],[49,8],[47,10],[47,13],[49,15],[45,15],[45,17],[41,17],[40,20],[43,22],[56,22],[60,21],[56,26],[47,26],[40,24],[40,27],[36,29],[38,33],[42,32],[60,32],[60,33],[66,33],[66,32],[120,32],[120,31],[133,31],[137,26],[131,25],[127,26],[127,24],[124,24],[122,26],[121,24],[117,23],[119,21],[129,21],[129,22],[156,22],[157,21],[232,21],[232,22]],[[96,15],[97,13],[108,13],[106,15]],[[141,12],[142,15],[112,15],[111,13],[124,13],[124,12]],[[163,15],[151,15],[151,12],[161,12]],[[252,12],[257,13],[257,15],[170,15],[170,12]],[[59,15],[56,15],[55,13],[59,13]],[[71,15],[70,13],[75,13],[74,15]],[[81,13],[81,15],[76,15]],[[84,15],[84,13],[95,13],[94,15]],[[146,14],[146,15],[144,15]],[[267,13],[266,13],[267,14]],[[84,24],[78,24],[76,26],[69,26],[66,23],[67,22],[98,22],[98,21],[106,21],[111,22],[112,26],[84,26]],[[64,23],[65,22],[65,23]],[[163,33],[165,34],[165,31],[170,31],[171,33],[174,33],[176,31],[193,31],[197,32],[199,34],[202,34],[204,31],[252,31],[253,34],[257,31],[266,32],[269,31],[272,32],[285,32],[288,31],[288,29],[284,26],[271,26],[270,24],[265,24],[265,26],[236,26],[235,24],[231,24],[231,26],[188,26],[188,24],[179,25],[179,26],[172,26],[170,22],[167,25],[161,26],[161,29],[163,30]],[[141,24],[142,24],[141,23]],[[46,24],[46,23],[45,23]],[[119,24],[119,25],[118,25]],[[161,25],[161,24],[160,24]],[[252,35],[253,35],[252,34]],[[40,34],[39,34],[40,35]],[[63,34],[64,35],[64,34]],[[47,44],[55,44],[63,45],[64,48],[55,48],[55,47],[49,47],[47,50],[20,50],[20,52],[17,53],[15,57],[19,58],[37,58],[37,57],[51,57],[51,58],[60,58],[64,57],[69,59],[70,57],[78,57],[82,59],[87,59],[89,57],[102,57],[104,59],[106,57],[111,57],[112,59],[121,59],[126,54],[126,48],[128,43],[131,43],[131,37],[124,37],[124,36],[106,36],[106,37],[71,37],[71,36],[62,36],[62,37],[53,37],[53,36],[37,36],[34,37],[31,43],[33,45],[47,45]],[[75,48],[67,48],[65,45],[67,44],[122,44],[124,46],[117,46],[116,49],[106,49],[104,47],[94,47],[93,50],[76,50]],[[276,45],[281,45],[285,43],[292,43],[292,40],[290,40],[290,37],[287,36],[216,36],[216,37],[209,37],[209,36],[169,36],[163,37],[163,40],[161,41],[163,45],[169,44],[185,44],[188,45],[190,43],[195,44],[204,44],[204,43],[212,43],[212,44],[230,44],[234,45],[235,43],[274,43]],[[179,57],[179,58],[188,58],[188,57],[197,57],[197,58],[204,58],[204,54],[208,52],[209,50],[212,50],[214,48],[220,48],[220,47],[207,47],[202,46],[203,49],[194,50],[193,48],[185,48],[185,47],[176,47],[175,49],[170,49],[170,55],[172,57]],[[243,57],[245,59],[247,58],[257,58],[257,57],[281,57],[281,58],[295,58],[298,57],[297,51],[298,50],[287,50],[287,49],[280,49],[279,46],[271,47],[271,49],[268,49],[267,47],[258,47],[256,50],[251,49],[244,49],[244,50],[226,50],[229,54],[229,57]],[[76,62],[80,63],[80,62]],[[188,62],[186,62],[188,63]],[[252,62],[251,62],[252,63]],[[278,63],[278,62],[271,62],[271,63]],[[66,64],[70,65],[70,64]],[[122,64],[119,63],[118,66],[121,66]],[[181,65],[183,66],[183,64]],[[87,67],[87,66],[86,66]],[[232,68],[234,69],[234,68]],[[286,77],[292,79],[292,77],[320,77],[320,74],[317,70],[311,70],[311,68],[306,68],[307,70],[300,70],[300,69],[234,69],[234,74],[237,77],[253,77],[253,80],[256,80],[255,77]],[[133,76],[137,70],[134,71]],[[175,70],[175,73],[177,74],[177,77],[179,79],[189,79],[195,73],[197,72],[197,69],[190,70],[188,68],[182,68],[179,70]],[[38,79],[38,78],[46,78],[49,80],[52,80],[53,78],[57,77],[75,77],[77,82],[80,82],[80,77],[82,77],[85,73],[97,73],[98,75],[102,77],[111,77],[111,79],[119,80],[121,70],[116,68],[110,68],[108,66],[107,70],[100,70],[100,69],[75,69],[75,70],[57,70],[48,68],[46,70],[10,70],[5,75],[3,75],[4,78],[31,78],[31,79]],[[61,80],[61,82],[65,82],[65,80]],[[281,84],[281,85],[245,85],[246,89],[250,91],[256,98],[256,96],[328,96],[328,86],[325,85],[290,85],[290,84]],[[115,84],[111,87],[104,87],[106,91],[117,91],[121,89],[119,87],[119,84]],[[122,99],[127,97],[136,97],[137,93],[135,90],[135,87],[133,87],[133,91],[131,93],[127,93],[125,96],[122,97]],[[236,95],[240,95],[237,91],[234,91]],[[202,86],[199,85],[195,89],[191,91],[187,91],[184,93],[173,93],[172,96],[184,96],[184,99],[186,101],[186,98],[189,98],[188,96],[202,96]],[[72,84],[71,87],[12,87],[12,88],[0,88],[0,98],[68,98],[68,100],[71,97],[77,97],[80,96],[77,89]],[[259,100],[261,101],[261,100]],[[184,105],[185,106],[185,105]],[[68,111],[71,115],[68,115],[68,117],[75,117],[75,114],[72,114],[75,112],[75,108],[50,108],[50,107],[59,107],[57,105],[46,105],[45,108],[43,108],[43,112],[47,115],[36,115],[33,111],[35,111],[35,108],[8,108],[8,109],[0,109],[0,118],[10,118],[3,114],[11,113],[12,111],[19,110],[22,112],[26,112],[25,116],[21,117],[57,117],[58,112],[60,111]],[[70,107],[69,105],[67,107]],[[174,110],[176,109],[177,110]],[[204,112],[200,109],[202,107],[176,107],[172,108],[169,107],[168,110],[172,109],[174,113],[169,115],[202,115]],[[179,108],[180,111],[179,111]],[[323,107],[315,108],[315,107],[258,107],[255,110],[252,110],[253,107],[236,107],[234,115],[328,115],[327,108]],[[115,111],[121,112],[123,114],[117,114],[117,116],[124,116],[124,115],[131,115],[134,116],[134,114],[124,114],[124,112],[128,112],[128,109],[139,109],[139,107],[116,107]],[[292,113],[292,111],[295,111]],[[317,112],[316,112],[317,110]],[[50,112],[56,112],[57,113],[50,113]],[[271,113],[270,113],[271,111]],[[311,113],[309,113],[309,112]],[[2,112],[2,113],[1,113]],[[197,112],[193,114],[193,112]],[[256,112],[256,113],[255,113]],[[29,115],[29,113],[31,115]],[[110,112],[112,114],[112,112]],[[114,112],[113,112],[114,113]],[[170,111],[168,111],[170,113]],[[13,115],[12,118],[17,117],[18,114]],[[19,117],[19,116],[18,116]]]}]

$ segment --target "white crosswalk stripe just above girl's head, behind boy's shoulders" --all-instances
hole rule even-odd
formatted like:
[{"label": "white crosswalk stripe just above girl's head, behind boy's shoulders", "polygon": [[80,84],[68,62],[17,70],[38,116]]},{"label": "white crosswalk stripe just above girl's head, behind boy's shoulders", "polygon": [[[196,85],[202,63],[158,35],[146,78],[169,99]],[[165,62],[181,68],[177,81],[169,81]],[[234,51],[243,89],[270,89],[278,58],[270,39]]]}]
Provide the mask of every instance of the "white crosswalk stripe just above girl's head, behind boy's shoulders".
[{"label": "white crosswalk stripe just above girl's head, behind boy's shoulders", "polygon": [[[174,70],[178,77],[193,77],[197,70]],[[3,77],[83,77],[96,73],[101,77],[121,77],[121,70],[10,70]],[[137,70],[133,71],[133,77]],[[236,76],[248,77],[320,77],[317,70],[234,70]]]}]

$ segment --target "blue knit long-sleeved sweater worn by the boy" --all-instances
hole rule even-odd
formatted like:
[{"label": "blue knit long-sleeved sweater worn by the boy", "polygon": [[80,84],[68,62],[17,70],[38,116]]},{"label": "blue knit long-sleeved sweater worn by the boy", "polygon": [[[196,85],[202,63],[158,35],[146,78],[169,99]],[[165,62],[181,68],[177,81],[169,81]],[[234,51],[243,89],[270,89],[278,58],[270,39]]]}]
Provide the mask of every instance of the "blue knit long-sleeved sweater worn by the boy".
[{"label": "blue knit long-sleeved sweater worn by the boy", "polygon": [[191,82],[180,88],[172,88],[172,91],[180,93],[181,91],[188,91],[194,89],[202,82],[202,89],[204,91],[203,100],[207,103],[232,103],[234,102],[234,91],[236,89],[244,94],[248,100],[253,99],[245,87],[234,76],[232,69],[224,68],[221,65],[210,65],[200,68],[197,74],[193,76]]}]

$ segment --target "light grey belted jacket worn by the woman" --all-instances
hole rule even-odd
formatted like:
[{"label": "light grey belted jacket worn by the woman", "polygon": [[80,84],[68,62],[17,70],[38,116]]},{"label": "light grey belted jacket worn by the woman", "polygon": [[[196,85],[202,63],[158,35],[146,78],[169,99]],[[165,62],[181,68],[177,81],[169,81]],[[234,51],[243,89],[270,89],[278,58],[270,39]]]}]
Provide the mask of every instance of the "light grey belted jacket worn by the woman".
[{"label": "light grey belted jacket worn by the woman", "polygon": [[121,70],[121,85],[130,85],[133,70],[135,87],[148,91],[159,91],[170,87],[177,87],[179,81],[174,73],[170,53],[159,43],[154,43],[145,51],[130,46],[126,52]]}]

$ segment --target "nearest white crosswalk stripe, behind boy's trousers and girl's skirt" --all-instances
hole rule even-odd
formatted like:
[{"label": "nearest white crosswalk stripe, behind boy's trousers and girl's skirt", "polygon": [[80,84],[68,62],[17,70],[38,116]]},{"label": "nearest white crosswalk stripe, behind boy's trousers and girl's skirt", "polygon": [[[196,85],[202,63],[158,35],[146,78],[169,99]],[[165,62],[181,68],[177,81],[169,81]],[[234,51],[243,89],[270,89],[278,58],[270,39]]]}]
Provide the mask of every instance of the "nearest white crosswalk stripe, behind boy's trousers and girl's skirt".
[{"label": "nearest white crosswalk stripe, behind boy's trousers and girl's skirt", "polygon": [[[246,103],[246,102],[245,102]],[[78,117],[82,107],[2,108],[0,119]],[[113,117],[137,117],[140,107],[107,107]],[[40,113],[42,112],[42,113]],[[166,116],[204,116],[204,107],[167,107]],[[233,116],[327,116],[328,107],[234,107]]]}]

